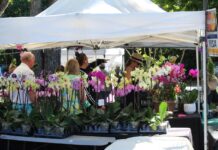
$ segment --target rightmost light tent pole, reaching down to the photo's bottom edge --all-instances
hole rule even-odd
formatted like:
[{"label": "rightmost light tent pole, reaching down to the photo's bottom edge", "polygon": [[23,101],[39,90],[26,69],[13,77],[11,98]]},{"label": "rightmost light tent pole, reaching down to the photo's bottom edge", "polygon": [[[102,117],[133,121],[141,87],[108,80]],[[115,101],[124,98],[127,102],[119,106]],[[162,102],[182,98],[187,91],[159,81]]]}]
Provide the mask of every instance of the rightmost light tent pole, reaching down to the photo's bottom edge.
[{"label": "rightmost light tent pole, reaching down to the photo's bottom edge", "polygon": [[204,150],[207,150],[207,143],[208,143],[207,141],[207,70],[206,70],[207,55],[206,55],[205,41],[202,44],[203,44]]}]

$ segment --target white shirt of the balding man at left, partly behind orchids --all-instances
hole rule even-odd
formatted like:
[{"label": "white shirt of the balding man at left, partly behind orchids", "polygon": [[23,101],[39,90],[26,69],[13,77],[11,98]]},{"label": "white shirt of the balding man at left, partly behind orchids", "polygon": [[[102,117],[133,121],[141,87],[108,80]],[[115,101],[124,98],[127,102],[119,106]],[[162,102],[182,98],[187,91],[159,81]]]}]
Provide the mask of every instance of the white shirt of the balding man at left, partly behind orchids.
[{"label": "white shirt of the balding man at left, partly behind orchids", "polygon": [[[17,75],[17,79],[21,80],[32,80],[35,81],[34,72],[25,63],[21,63],[12,73]],[[20,87],[23,87],[22,82],[20,82]],[[13,103],[18,104],[30,104],[29,93],[26,89],[19,89],[10,92],[10,99]]]}]

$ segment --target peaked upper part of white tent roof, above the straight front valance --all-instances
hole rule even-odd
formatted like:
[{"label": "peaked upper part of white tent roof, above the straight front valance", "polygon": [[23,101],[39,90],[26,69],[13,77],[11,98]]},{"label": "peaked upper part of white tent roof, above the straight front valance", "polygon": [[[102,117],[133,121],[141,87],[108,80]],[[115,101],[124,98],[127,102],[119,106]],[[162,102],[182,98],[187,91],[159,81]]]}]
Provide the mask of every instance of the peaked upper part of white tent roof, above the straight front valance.
[{"label": "peaked upper part of white tent roof, above the straight front valance", "polygon": [[37,16],[69,13],[120,14],[164,12],[150,0],[59,0]]}]

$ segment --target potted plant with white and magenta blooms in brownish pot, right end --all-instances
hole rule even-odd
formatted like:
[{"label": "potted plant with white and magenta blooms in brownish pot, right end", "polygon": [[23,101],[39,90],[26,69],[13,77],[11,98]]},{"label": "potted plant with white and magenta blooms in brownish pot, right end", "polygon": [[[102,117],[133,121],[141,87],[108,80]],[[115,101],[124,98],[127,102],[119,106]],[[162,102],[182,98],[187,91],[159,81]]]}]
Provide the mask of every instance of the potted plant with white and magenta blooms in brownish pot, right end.
[{"label": "potted plant with white and magenta blooms in brownish pot, right end", "polygon": [[[154,96],[158,100],[157,107],[161,101],[168,103],[168,110],[173,111],[176,96],[180,92],[180,83],[185,79],[184,64],[174,64],[169,61],[154,74],[153,81],[156,82]],[[157,111],[157,109],[156,109]]]}]

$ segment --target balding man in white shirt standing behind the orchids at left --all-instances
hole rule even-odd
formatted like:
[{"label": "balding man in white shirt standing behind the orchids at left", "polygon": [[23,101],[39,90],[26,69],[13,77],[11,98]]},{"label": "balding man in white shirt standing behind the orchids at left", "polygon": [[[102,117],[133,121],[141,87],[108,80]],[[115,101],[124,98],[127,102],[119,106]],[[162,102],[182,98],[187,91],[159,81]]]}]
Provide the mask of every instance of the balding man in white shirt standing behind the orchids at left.
[{"label": "balding man in white shirt standing behind the orchids at left", "polygon": [[20,88],[12,91],[10,98],[13,102],[13,107],[17,109],[25,108],[28,112],[31,111],[31,104],[36,101],[36,94],[33,91],[28,91],[24,88],[23,81],[35,81],[34,72],[31,68],[35,64],[35,56],[31,52],[23,52],[20,55],[21,64],[13,71],[12,77],[16,77],[19,81]]}]

